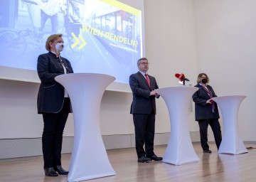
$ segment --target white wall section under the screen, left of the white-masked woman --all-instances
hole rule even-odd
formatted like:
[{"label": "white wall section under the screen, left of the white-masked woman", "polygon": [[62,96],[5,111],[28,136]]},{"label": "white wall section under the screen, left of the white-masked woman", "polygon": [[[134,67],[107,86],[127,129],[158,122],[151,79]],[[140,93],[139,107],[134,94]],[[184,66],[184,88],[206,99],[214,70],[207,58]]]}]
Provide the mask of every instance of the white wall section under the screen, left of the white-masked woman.
[{"label": "white wall section under the screen, left of the white-masked woman", "polygon": [[38,84],[0,80],[0,139],[42,137],[37,114]]}]

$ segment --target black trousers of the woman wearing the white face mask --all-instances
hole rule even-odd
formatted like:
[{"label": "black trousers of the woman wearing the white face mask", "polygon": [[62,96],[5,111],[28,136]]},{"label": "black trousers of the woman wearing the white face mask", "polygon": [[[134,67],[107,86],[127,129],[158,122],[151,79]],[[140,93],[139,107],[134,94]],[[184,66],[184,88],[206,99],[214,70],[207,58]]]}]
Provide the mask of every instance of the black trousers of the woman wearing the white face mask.
[{"label": "black trousers of the woman wearing the white face mask", "polygon": [[68,119],[70,99],[65,98],[63,108],[58,113],[43,113],[43,161],[44,168],[61,166],[63,130]]}]

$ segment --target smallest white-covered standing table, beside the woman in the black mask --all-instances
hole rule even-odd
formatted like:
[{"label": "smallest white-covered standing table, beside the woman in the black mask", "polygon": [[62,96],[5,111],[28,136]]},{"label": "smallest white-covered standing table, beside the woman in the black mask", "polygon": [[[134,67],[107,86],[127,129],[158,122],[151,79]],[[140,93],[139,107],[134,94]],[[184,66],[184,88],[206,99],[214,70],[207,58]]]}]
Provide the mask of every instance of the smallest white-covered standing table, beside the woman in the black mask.
[{"label": "smallest white-covered standing table, beside the woman in the black mask", "polygon": [[242,154],[248,152],[238,132],[238,109],[244,95],[214,97],[223,117],[223,139],[218,153]]}]

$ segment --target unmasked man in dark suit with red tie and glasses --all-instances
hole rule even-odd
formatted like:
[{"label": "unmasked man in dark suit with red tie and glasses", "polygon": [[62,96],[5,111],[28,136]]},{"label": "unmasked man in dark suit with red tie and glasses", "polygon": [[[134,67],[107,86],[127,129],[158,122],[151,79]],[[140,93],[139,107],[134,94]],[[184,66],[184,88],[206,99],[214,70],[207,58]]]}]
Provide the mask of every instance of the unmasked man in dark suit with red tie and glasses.
[{"label": "unmasked man in dark suit with red tie and glasses", "polygon": [[154,90],[159,87],[156,79],[146,74],[149,70],[146,58],[140,58],[137,66],[139,72],[130,75],[129,85],[133,95],[130,113],[133,114],[134,120],[138,162],[161,161],[162,158],[154,154],[155,98],[159,97]]}]

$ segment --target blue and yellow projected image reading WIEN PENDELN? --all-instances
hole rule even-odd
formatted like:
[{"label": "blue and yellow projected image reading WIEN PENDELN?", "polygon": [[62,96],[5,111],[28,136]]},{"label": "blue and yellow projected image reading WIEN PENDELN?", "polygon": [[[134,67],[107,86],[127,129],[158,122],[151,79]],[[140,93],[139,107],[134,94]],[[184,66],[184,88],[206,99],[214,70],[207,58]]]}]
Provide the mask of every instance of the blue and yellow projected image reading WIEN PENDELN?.
[{"label": "blue and yellow projected image reading WIEN PENDELN?", "polygon": [[141,11],[110,0],[1,0],[0,65],[36,70],[50,34],[63,33],[75,73],[128,83],[142,57]]}]

